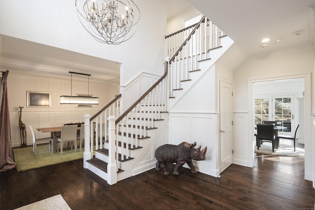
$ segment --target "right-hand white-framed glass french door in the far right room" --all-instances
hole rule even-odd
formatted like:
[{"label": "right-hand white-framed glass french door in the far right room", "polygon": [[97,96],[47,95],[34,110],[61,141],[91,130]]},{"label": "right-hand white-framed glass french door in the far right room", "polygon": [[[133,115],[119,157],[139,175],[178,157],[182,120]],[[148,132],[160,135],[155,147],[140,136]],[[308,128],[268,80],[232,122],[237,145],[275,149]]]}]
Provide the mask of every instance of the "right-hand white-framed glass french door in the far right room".
[{"label": "right-hand white-framed glass french door in the far right room", "polygon": [[294,95],[272,96],[272,120],[278,121],[278,125],[286,127],[279,130],[279,134],[294,135]]}]

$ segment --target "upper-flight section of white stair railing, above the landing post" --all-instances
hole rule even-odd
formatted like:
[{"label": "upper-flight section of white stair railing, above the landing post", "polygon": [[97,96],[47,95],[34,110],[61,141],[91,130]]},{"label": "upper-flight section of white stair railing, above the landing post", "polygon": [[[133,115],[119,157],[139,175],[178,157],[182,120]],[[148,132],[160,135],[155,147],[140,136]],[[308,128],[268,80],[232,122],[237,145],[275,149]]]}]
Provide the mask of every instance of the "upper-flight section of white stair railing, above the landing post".
[{"label": "upper-flight section of white stair railing, above the landing post", "polygon": [[[198,70],[198,61],[209,60],[209,51],[221,47],[222,36],[224,33],[206,17],[195,25],[165,36],[165,55],[172,58],[169,62],[171,97],[172,90],[180,90],[181,82],[189,80],[189,72]],[[188,41],[184,42],[186,39]]]}]

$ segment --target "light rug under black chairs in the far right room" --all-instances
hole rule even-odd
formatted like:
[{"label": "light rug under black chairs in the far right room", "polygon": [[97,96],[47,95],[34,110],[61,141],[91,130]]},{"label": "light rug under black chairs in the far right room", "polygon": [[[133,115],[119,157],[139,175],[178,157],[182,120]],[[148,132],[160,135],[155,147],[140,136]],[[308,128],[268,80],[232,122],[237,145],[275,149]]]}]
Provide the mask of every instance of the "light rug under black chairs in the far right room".
[{"label": "light rug under black chairs in the far right room", "polygon": [[259,150],[257,150],[257,147],[255,146],[255,152],[261,153],[261,154],[271,154],[275,156],[303,156],[304,155],[304,149],[294,147],[291,145],[284,145],[280,144],[279,149],[272,151],[272,144],[271,142],[264,142]]}]

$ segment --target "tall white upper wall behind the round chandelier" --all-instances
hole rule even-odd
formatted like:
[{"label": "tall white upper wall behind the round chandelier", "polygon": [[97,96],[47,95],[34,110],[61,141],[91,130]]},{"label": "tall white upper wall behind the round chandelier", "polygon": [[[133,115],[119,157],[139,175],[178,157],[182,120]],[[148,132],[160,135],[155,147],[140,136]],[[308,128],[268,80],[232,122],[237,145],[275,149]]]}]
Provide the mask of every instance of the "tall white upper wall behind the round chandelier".
[{"label": "tall white upper wall behind the round chandelier", "polygon": [[163,74],[166,2],[136,2],[141,15],[138,29],[121,45],[95,41],[82,27],[71,0],[3,1],[0,34],[120,62],[121,85],[126,85],[142,71]]}]

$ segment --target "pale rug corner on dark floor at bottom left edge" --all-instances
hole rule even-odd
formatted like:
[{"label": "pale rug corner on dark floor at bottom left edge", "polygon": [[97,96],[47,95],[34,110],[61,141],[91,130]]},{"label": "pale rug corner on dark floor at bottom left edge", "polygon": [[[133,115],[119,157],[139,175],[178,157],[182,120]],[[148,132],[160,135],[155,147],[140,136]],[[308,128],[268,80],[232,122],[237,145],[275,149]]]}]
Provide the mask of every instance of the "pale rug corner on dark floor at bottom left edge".
[{"label": "pale rug corner on dark floor at bottom left edge", "polygon": [[29,204],[16,210],[71,210],[63,200],[63,196],[55,195],[41,201]]}]

